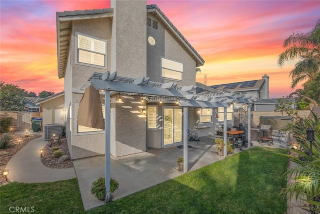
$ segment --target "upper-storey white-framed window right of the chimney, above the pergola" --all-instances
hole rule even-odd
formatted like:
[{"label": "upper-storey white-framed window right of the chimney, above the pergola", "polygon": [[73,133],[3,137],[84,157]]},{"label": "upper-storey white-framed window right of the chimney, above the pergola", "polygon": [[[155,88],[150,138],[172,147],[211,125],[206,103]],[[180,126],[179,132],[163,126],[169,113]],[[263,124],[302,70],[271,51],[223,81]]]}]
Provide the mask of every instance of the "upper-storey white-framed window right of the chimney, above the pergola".
[{"label": "upper-storey white-framed window right of the chimney, above the pergola", "polygon": [[183,64],[161,58],[161,77],[172,80],[183,80]]}]

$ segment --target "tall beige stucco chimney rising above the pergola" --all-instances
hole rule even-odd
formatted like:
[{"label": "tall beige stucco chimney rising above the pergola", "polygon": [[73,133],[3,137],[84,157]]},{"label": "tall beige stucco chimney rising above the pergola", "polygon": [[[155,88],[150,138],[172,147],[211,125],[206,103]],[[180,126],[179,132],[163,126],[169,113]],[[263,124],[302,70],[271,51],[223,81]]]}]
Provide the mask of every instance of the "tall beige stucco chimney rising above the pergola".
[{"label": "tall beige stucco chimney rising above the pergola", "polygon": [[146,2],[111,1],[113,8],[111,72],[146,76]]}]

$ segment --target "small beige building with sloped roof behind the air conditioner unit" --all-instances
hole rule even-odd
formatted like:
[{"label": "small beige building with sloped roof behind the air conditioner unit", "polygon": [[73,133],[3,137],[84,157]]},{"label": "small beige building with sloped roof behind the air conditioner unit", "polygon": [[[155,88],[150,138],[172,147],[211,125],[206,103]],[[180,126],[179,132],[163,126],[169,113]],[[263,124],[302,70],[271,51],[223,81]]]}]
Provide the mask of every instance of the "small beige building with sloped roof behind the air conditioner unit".
[{"label": "small beige building with sloped roof behind the air conditioner unit", "polygon": [[64,92],[51,95],[49,97],[42,98],[36,102],[41,106],[42,111],[42,125],[59,123],[64,125]]}]

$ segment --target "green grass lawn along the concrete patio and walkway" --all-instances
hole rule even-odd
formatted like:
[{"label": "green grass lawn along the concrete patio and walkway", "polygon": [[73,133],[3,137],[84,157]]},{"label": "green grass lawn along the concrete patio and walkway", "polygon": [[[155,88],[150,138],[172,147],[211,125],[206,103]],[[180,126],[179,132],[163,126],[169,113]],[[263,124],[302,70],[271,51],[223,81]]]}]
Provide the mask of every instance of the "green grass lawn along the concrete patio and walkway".
[{"label": "green grass lawn along the concrete patio and walkway", "polygon": [[[283,213],[279,193],[284,149],[254,147],[198,170],[133,193],[88,213]],[[121,185],[121,184],[120,184]],[[11,183],[0,187],[0,213],[9,206],[34,206],[35,213],[84,212],[75,179]]]}]

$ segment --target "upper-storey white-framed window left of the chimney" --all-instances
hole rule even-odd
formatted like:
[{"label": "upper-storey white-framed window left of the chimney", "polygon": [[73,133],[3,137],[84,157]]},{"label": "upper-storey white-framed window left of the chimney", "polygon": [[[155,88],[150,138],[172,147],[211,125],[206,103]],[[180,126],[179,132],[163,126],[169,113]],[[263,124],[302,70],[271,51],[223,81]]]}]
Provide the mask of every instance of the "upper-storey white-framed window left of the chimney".
[{"label": "upper-storey white-framed window left of the chimney", "polygon": [[107,68],[107,41],[75,32],[75,64]]}]

